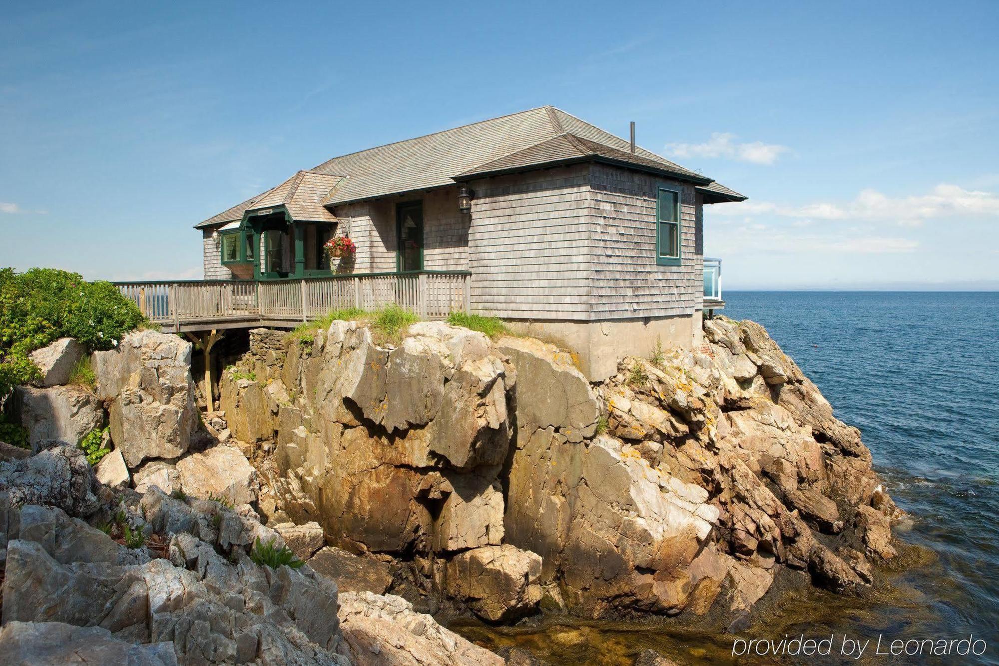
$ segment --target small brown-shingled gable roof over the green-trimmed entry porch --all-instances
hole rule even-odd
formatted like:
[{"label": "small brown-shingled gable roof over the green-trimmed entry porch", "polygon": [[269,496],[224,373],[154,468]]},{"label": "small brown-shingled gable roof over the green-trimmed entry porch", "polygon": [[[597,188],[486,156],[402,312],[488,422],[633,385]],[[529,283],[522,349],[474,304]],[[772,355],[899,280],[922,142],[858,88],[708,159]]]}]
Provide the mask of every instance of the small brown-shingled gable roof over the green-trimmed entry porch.
[{"label": "small brown-shingled gable roof over the green-trimmed entry porch", "polygon": [[274,206],[285,206],[295,220],[335,222],[336,216],[322,202],[342,180],[343,176],[299,171],[281,185],[208,218],[197,227],[211,227],[223,222],[242,220],[248,210]]}]

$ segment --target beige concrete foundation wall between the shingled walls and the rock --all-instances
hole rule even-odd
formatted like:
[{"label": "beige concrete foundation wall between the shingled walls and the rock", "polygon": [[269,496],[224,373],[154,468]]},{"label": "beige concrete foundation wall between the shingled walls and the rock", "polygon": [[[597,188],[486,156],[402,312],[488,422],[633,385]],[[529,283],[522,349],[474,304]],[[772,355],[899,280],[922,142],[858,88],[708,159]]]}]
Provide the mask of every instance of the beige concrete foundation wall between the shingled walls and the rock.
[{"label": "beige concrete foundation wall between the shingled walls and the rock", "polygon": [[701,313],[605,321],[509,321],[510,329],[551,342],[572,354],[586,378],[598,382],[617,371],[624,356],[648,358],[663,349],[690,349],[703,342]]}]

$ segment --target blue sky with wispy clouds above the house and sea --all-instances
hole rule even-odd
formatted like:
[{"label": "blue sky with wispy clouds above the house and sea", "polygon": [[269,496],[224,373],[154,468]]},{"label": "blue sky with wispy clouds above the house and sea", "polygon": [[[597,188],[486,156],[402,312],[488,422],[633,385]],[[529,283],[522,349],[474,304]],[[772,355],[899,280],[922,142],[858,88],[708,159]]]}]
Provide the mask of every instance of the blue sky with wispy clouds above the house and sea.
[{"label": "blue sky with wispy clouds above the house and sea", "polygon": [[734,288],[999,287],[999,3],[8,3],[0,265],[201,277],[335,155],[553,104],[748,195]]}]

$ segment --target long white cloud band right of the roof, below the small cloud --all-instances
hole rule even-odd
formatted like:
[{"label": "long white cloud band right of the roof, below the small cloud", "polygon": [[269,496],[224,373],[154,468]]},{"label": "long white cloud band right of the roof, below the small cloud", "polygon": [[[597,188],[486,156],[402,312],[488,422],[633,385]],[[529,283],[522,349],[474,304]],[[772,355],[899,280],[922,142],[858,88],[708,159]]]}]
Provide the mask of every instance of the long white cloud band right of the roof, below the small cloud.
[{"label": "long white cloud band right of the roof, below the small cloud", "polygon": [[718,206],[716,214],[771,215],[803,220],[867,220],[919,226],[925,220],[936,218],[999,217],[999,195],[942,183],[926,194],[907,197],[889,197],[877,190],[865,189],[848,202],[816,201],[789,206],[769,201],[747,201],[737,206]]}]

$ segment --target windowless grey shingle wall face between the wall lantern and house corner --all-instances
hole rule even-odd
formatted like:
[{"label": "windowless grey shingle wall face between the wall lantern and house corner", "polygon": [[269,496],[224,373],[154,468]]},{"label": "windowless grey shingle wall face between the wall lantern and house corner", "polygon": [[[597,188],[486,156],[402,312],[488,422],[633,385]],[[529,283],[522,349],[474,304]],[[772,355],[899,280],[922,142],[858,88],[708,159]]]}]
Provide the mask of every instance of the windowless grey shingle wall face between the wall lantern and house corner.
[{"label": "windowless grey shingle wall face between the wall lantern and house corner", "polygon": [[588,167],[472,186],[473,310],[513,319],[589,319]]}]

